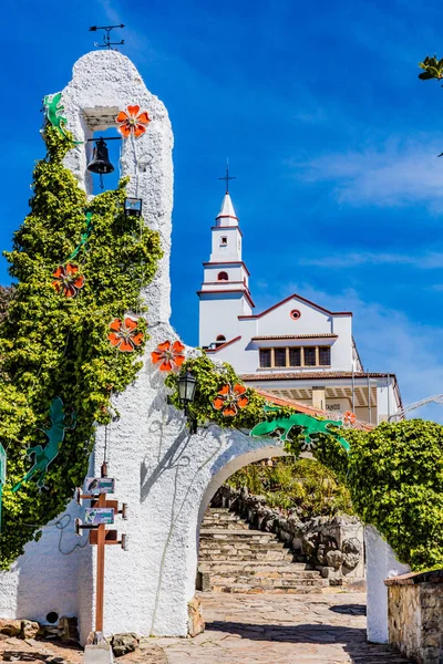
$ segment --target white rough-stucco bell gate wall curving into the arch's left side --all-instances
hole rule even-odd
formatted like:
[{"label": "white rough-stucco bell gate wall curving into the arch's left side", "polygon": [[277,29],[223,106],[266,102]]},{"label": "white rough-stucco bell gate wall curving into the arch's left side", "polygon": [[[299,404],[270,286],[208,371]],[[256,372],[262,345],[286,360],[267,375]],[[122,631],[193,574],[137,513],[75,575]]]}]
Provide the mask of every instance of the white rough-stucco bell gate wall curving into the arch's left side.
[{"label": "white rough-stucco bell gate wall curving into the arch's left side", "polygon": [[[107,430],[97,428],[89,474],[100,473],[106,443],[115,498],[130,506],[128,521],[116,522],[128,537],[128,551],[106,550],[105,634],[185,636],[204,510],[235,470],[284,450],[278,442],[213,425],[190,435],[183,413],[167,404],[164,376],[151,362],[158,343],[177,339],[169,324],[173,135],[166,108],[148,92],[133,63],[115,51],[81,58],[62,95],[63,115],[76,141],[91,136],[92,117],[107,117],[106,127],[115,110],[128,104],[138,104],[152,117],[136,144],[123,145],[121,159],[122,175],[131,176],[128,194],[143,199],[145,222],[158,230],[164,251],[157,274],[144,291],[151,340],[144,367],[114,400],[119,422]],[[84,145],[71,151],[65,163],[90,191]],[[82,508],[71,502],[61,515],[66,522],[62,536],[54,523],[48,525],[40,541],[29,543],[11,570],[0,573],[1,618],[44,621],[50,611],[78,615],[85,642],[94,626],[95,550],[74,535],[73,519],[82,516]],[[379,577],[383,566],[380,570]],[[384,585],[380,592],[385,594]]]}]

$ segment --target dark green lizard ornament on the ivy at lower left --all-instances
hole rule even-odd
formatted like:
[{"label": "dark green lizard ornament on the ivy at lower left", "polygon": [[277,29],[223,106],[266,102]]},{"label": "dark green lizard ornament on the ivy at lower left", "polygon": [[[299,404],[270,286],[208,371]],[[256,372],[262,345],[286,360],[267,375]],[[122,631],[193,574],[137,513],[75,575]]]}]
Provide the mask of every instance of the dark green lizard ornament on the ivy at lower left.
[{"label": "dark green lizard ornament on the ivy at lower left", "polygon": [[25,474],[23,479],[21,479],[12,489],[14,494],[20,489],[20,487],[25,483],[32,479],[32,477],[37,476],[37,486],[42,489],[44,487],[44,479],[48,471],[48,466],[54,460],[60,450],[60,445],[64,439],[64,432],[66,429],[73,429],[75,427],[75,414],[73,413],[71,416],[70,424],[65,424],[65,415],[63,413],[63,402],[58,396],[52,400],[50,406],[50,418],[51,418],[51,428],[42,429],[43,433],[48,437],[48,443],[44,447],[41,445],[35,445],[34,447],[29,447],[27,449],[28,456],[31,454],[34,455],[34,465],[32,468]]}]

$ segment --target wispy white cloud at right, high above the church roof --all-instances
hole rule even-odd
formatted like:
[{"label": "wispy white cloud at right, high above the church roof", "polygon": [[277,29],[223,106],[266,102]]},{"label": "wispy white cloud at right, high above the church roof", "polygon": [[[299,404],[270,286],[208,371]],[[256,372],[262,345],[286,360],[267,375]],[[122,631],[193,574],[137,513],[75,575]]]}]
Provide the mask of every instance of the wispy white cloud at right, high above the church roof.
[{"label": "wispy white cloud at right, high above the church roof", "polygon": [[443,137],[423,134],[414,139],[390,138],[381,147],[363,146],[329,152],[306,160],[291,160],[297,179],[330,183],[341,204],[403,207],[423,204],[443,210]]}]

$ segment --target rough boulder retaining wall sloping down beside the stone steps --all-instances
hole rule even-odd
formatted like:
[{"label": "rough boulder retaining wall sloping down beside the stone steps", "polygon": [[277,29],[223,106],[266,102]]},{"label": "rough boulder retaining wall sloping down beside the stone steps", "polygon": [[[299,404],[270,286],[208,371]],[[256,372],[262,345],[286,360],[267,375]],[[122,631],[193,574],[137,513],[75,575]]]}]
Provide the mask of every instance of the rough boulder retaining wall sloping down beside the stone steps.
[{"label": "rough boulder retaining wall sloping down beside the stone steps", "polygon": [[342,515],[300,521],[293,515],[285,516],[268,507],[264,496],[228,485],[219,488],[212,505],[229,507],[255,528],[276,533],[296,557],[307,557],[331,585],[364,578],[363,525],[357,517]]}]

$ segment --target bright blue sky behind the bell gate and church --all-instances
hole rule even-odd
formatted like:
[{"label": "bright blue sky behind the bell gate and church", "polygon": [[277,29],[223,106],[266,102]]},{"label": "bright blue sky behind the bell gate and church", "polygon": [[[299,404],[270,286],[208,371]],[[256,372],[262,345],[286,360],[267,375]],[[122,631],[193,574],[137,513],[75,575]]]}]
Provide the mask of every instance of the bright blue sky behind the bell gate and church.
[{"label": "bright blue sky behind the bell gate and church", "polygon": [[443,90],[416,77],[420,60],[443,53],[442,20],[434,0],[425,11],[411,0],[8,3],[1,247],[44,153],[43,95],[93,46],[89,25],[123,22],[122,51],[175,134],[182,338],[197,343],[195,291],[229,156],[257,309],[290,292],[350,309],[365,369],[396,373],[405,403],[443,392]]}]

